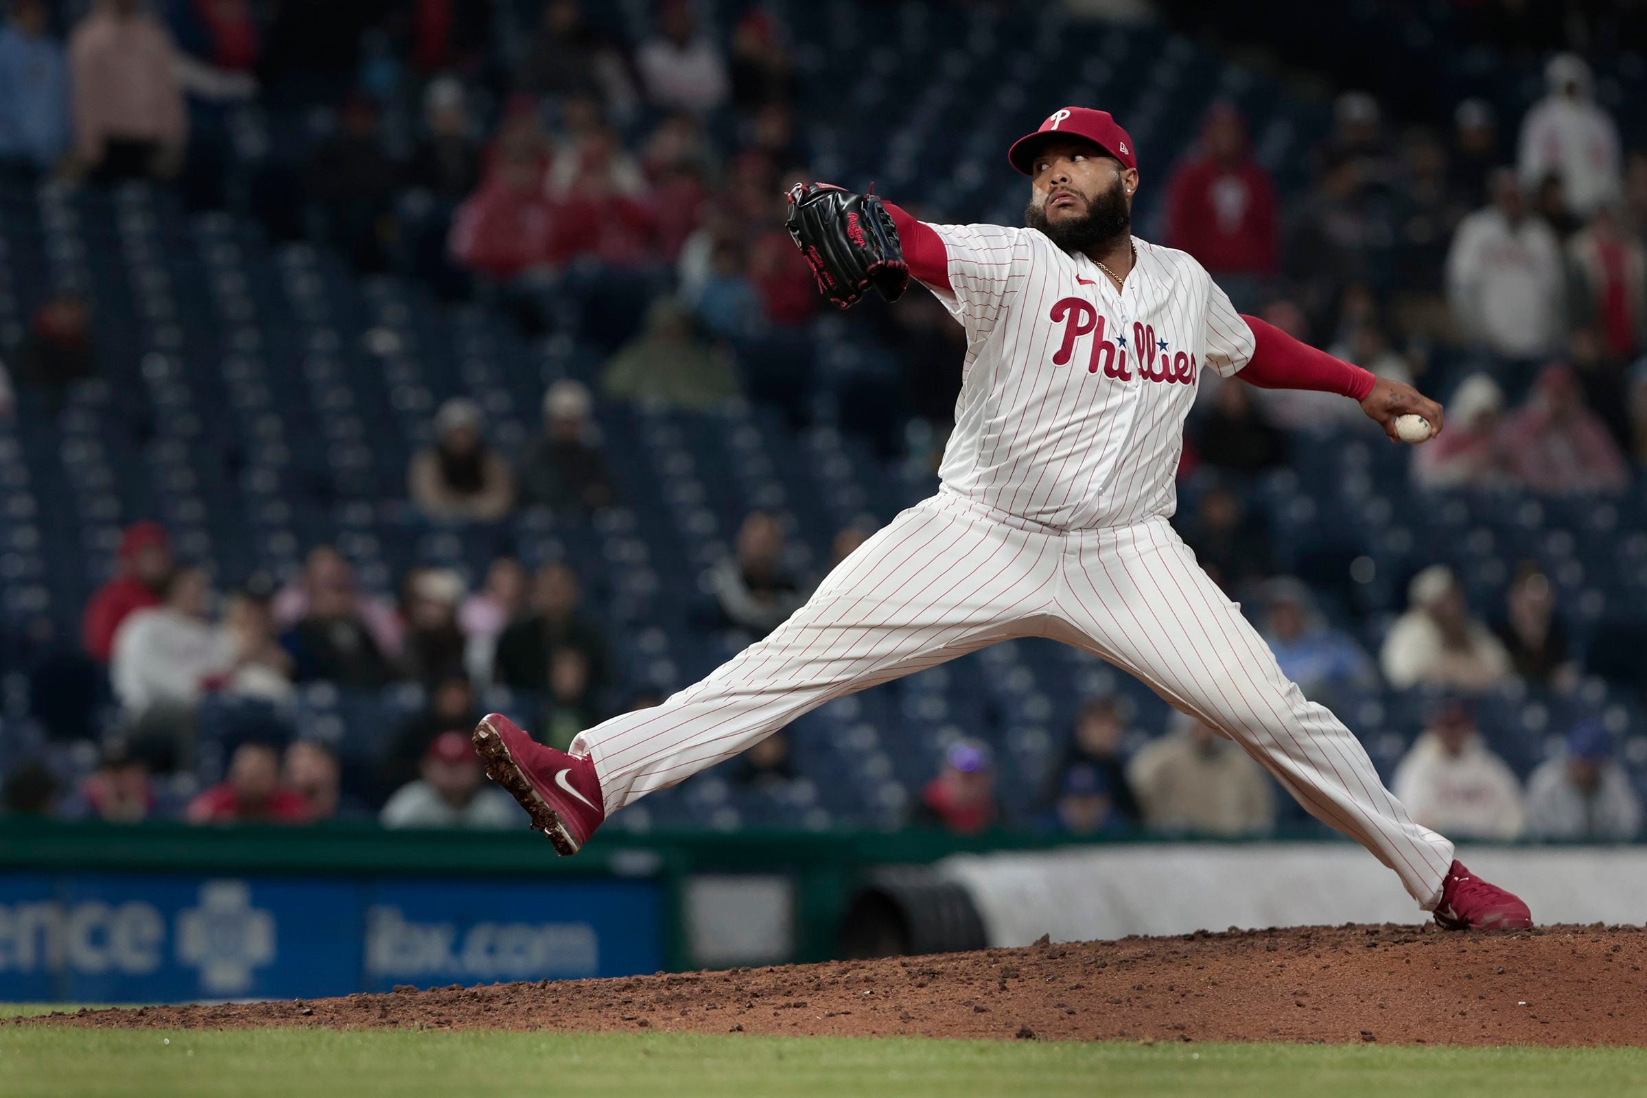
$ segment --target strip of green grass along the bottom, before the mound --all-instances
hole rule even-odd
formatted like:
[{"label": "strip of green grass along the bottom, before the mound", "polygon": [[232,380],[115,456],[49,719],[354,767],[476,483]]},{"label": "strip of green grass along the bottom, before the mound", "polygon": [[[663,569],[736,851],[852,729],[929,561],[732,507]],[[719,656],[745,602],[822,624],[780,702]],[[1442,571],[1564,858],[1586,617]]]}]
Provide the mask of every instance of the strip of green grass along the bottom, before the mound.
[{"label": "strip of green grass along the bottom, before the mound", "polygon": [[1612,1098],[1635,1093],[1644,1073],[1644,1049],[0,1027],[0,1093],[5,1098],[293,1093],[308,1098]]}]

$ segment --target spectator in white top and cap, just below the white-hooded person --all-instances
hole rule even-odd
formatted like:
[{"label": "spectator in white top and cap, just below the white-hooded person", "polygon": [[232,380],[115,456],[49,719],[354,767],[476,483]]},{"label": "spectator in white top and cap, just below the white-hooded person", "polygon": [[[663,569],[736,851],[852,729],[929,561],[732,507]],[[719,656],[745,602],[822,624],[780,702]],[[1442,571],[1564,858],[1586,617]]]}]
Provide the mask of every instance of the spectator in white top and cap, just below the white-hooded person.
[{"label": "spectator in white top and cap, just below the white-hooded person", "polygon": [[1556,347],[1563,323],[1561,245],[1527,216],[1515,173],[1494,171],[1492,204],[1459,222],[1446,260],[1453,319],[1474,346],[1509,359]]}]

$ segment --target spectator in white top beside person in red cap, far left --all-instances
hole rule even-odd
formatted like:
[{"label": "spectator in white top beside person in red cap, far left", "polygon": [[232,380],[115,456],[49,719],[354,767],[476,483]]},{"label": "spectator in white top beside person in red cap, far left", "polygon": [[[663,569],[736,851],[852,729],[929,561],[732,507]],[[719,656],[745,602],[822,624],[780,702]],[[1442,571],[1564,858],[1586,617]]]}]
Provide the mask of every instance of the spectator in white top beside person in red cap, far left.
[{"label": "spectator in white top beside person in red cap, far left", "polygon": [[114,635],[109,678],[132,716],[153,706],[193,710],[236,665],[229,634],[212,624],[211,579],[201,568],[171,573],[160,606],[135,611]]}]

